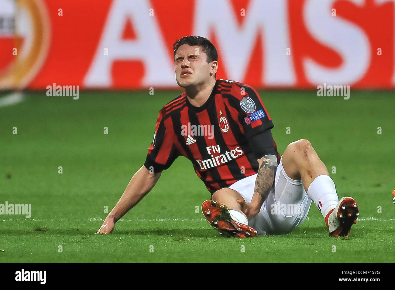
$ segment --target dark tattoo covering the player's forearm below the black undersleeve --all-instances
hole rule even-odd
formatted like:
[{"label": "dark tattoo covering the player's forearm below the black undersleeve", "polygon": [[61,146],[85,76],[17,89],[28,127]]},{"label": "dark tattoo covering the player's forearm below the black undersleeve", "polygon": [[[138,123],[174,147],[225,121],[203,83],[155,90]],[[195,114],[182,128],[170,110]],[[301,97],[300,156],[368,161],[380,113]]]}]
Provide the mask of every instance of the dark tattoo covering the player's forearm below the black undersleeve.
[{"label": "dark tattoo covering the player's forearm below the black undersleeve", "polygon": [[277,157],[275,155],[265,155],[258,161],[261,165],[258,169],[258,176],[255,181],[255,192],[260,196],[260,202],[264,202],[270,193],[277,170]]}]

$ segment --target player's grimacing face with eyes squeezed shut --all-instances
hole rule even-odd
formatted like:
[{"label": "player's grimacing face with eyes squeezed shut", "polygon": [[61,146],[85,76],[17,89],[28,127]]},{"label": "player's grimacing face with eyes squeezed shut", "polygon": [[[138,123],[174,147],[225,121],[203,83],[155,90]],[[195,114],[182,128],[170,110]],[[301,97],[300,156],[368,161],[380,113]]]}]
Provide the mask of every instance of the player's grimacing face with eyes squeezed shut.
[{"label": "player's grimacing face with eyes squeezed shut", "polygon": [[175,77],[182,88],[208,82],[213,62],[207,63],[207,54],[201,47],[183,44],[174,56]]}]

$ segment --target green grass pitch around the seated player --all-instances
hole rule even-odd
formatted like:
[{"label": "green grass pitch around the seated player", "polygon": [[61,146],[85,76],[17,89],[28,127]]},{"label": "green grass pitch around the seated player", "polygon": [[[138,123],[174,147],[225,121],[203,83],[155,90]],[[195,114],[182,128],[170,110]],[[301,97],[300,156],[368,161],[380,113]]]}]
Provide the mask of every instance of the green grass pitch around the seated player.
[{"label": "green grass pitch around the seated player", "polygon": [[352,91],[349,100],[260,92],[280,154],[310,140],[329,172],[336,167],[339,197],[357,200],[361,215],[348,239],[329,238],[314,204],[288,235],[222,238],[200,212],[210,194],[184,157],[113,234],[94,235],[104,207],[113,208],[143,165],[158,111],[180,91],[89,91],[78,100],[24,94],[0,107],[0,203],[32,204],[32,217],[0,215],[0,262],[394,262],[392,91]]}]

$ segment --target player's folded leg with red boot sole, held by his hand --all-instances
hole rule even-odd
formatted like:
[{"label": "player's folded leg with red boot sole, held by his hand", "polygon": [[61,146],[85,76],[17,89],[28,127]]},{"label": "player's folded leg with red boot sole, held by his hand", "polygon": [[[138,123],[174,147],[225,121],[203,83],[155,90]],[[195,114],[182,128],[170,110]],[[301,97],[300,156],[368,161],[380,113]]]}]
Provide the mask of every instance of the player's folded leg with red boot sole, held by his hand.
[{"label": "player's folded leg with red boot sole, held by his hand", "polygon": [[210,225],[222,234],[236,238],[257,236],[257,231],[248,226],[248,219],[236,200],[244,199],[237,191],[223,188],[213,194],[213,200],[203,202],[201,211]]}]

